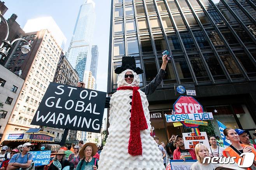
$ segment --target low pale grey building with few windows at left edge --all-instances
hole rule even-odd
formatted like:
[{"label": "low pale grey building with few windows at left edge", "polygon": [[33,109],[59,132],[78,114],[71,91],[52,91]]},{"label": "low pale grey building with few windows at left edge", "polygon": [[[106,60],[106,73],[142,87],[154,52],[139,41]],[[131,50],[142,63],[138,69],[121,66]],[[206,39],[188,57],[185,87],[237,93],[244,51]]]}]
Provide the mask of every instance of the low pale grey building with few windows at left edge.
[{"label": "low pale grey building with few windows at left edge", "polygon": [[7,121],[18,98],[24,80],[0,65],[0,138],[2,138]]}]

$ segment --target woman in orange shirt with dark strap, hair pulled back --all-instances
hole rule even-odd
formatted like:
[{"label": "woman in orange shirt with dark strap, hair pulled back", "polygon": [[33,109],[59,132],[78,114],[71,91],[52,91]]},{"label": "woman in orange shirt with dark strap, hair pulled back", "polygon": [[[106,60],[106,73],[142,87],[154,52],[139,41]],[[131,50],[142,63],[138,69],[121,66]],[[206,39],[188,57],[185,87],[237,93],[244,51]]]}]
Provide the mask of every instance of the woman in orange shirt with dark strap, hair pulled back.
[{"label": "woman in orange shirt with dark strap, hair pulled back", "polygon": [[[240,154],[245,152],[252,152],[254,155],[256,155],[256,150],[252,146],[240,144],[240,138],[237,132],[232,128],[225,128],[223,130],[224,135],[226,136],[226,139],[230,140],[231,145],[224,149],[223,155],[228,156],[235,156],[235,162],[238,163],[238,160],[240,158]],[[247,168],[247,170],[256,169],[256,156],[254,157],[254,162],[252,164],[252,167]]]}]

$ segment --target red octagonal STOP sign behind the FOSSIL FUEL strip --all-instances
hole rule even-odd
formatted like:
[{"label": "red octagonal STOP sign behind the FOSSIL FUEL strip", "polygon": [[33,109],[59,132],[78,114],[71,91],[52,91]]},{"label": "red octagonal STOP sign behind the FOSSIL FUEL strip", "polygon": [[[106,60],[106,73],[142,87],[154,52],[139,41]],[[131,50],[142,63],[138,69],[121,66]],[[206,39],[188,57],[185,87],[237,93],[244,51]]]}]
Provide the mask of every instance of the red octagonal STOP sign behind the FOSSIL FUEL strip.
[{"label": "red octagonal STOP sign behind the FOSSIL FUEL strip", "polygon": [[[203,106],[191,96],[180,96],[173,105],[175,114],[203,113]],[[181,121],[186,127],[197,128],[199,125],[188,124]]]}]

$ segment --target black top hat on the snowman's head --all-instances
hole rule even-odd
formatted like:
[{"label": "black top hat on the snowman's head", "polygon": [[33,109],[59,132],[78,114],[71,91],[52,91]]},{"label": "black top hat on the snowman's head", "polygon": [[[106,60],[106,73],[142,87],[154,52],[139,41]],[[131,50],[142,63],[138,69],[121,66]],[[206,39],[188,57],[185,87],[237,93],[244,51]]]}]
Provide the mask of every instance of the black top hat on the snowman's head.
[{"label": "black top hat on the snowman's head", "polygon": [[139,67],[136,67],[135,58],[131,56],[123,56],[122,66],[115,69],[116,74],[122,73],[126,69],[131,69],[138,75],[143,73],[143,70]]}]

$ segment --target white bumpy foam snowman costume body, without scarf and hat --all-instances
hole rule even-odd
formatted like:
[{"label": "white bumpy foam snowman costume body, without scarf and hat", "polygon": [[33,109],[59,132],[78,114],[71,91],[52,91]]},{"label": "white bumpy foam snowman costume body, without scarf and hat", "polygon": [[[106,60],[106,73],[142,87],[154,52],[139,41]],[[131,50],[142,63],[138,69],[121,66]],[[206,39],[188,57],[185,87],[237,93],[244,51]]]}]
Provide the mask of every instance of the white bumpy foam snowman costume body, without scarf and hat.
[{"label": "white bumpy foam snowman costume body, without scarf and hat", "polygon": [[[124,80],[127,71],[134,75],[132,84]],[[122,71],[117,79],[117,87],[139,87],[139,84],[139,75],[131,69]],[[99,170],[165,170],[162,153],[150,135],[151,122],[146,94],[138,91],[147,123],[147,129],[140,130],[142,155],[133,156],[128,153],[133,90],[117,90],[110,98],[109,135],[100,154]]]}]

